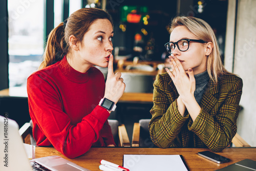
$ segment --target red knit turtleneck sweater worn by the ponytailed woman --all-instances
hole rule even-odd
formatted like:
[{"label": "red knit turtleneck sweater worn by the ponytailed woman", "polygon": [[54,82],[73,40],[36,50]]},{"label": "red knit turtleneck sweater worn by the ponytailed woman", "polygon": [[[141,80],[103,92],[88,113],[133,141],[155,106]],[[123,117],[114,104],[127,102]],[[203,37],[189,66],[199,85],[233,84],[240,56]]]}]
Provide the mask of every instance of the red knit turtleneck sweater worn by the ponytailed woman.
[{"label": "red knit turtleneck sweater worn by the ponytailed woman", "polygon": [[80,73],[66,57],[29,76],[29,112],[36,144],[53,145],[69,158],[86,153],[91,146],[115,144],[107,120],[110,114],[98,105],[104,89],[98,69]]}]

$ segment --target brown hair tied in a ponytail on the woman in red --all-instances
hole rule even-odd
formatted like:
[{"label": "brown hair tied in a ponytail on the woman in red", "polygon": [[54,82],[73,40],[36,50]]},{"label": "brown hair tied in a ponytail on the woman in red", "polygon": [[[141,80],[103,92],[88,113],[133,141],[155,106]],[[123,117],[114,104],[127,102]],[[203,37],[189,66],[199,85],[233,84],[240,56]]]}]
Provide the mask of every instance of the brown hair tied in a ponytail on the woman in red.
[{"label": "brown hair tied in a ponytail on the woman in red", "polygon": [[74,35],[82,42],[84,34],[97,19],[108,19],[114,27],[112,17],[108,12],[97,8],[82,8],[72,13],[67,20],[54,28],[48,36],[43,55],[44,60],[39,69],[63,59],[70,51],[69,37]]}]

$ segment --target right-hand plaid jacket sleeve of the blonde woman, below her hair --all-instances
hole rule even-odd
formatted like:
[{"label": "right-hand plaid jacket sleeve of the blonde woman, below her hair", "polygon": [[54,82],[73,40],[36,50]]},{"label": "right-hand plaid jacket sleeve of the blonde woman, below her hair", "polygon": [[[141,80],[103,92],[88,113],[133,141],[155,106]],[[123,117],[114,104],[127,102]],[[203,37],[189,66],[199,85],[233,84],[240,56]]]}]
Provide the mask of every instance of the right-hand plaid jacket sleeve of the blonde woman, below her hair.
[{"label": "right-hand plaid jacket sleeve of the blonde woman, below her hair", "polygon": [[222,151],[237,132],[242,87],[241,78],[225,81],[214,110],[207,112],[202,108],[196,120],[188,123],[188,130],[197,134],[212,152]]}]

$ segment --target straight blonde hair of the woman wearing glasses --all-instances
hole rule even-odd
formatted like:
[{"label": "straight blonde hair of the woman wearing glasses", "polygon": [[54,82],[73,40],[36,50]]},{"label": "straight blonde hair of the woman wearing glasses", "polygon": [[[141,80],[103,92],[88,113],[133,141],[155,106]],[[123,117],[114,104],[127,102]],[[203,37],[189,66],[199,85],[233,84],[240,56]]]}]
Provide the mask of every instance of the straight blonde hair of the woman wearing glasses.
[{"label": "straight blonde hair of the woman wearing glasses", "polygon": [[221,75],[231,74],[222,64],[217,38],[208,23],[196,17],[177,16],[170,24],[170,33],[178,26],[185,26],[198,39],[204,40],[205,42],[212,42],[213,48],[207,57],[207,72],[212,81],[217,83]]}]

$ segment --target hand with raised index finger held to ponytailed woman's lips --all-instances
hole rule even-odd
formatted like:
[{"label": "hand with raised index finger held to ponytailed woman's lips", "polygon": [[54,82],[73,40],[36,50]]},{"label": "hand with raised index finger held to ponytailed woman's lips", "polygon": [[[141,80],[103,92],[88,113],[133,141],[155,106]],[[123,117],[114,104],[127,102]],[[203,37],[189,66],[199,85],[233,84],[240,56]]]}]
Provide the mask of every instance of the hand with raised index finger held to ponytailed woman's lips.
[{"label": "hand with raised index finger held to ponytailed woman's lips", "polygon": [[119,98],[123,95],[125,89],[125,83],[123,82],[123,78],[121,78],[121,73],[117,72],[114,74],[113,71],[113,55],[110,55],[109,66],[108,66],[108,76],[106,77],[106,87],[105,87],[105,95],[104,97],[118,102]]}]

